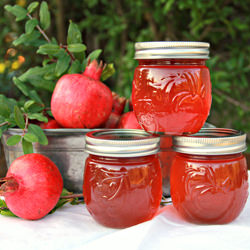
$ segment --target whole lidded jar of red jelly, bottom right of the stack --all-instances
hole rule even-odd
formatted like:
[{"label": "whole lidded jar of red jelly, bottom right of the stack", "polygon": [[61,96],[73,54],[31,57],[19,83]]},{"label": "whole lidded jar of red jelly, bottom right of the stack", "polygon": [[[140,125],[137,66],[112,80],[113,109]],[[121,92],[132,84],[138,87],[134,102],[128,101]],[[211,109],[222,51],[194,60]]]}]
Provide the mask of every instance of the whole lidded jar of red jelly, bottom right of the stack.
[{"label": "whole lidded jar of red jelly, bottom right of the stack", "polygon": [[173,137],[172,202],[193,223],[224,224],[243,210],[248,197],[246,134],[222,128]]}]

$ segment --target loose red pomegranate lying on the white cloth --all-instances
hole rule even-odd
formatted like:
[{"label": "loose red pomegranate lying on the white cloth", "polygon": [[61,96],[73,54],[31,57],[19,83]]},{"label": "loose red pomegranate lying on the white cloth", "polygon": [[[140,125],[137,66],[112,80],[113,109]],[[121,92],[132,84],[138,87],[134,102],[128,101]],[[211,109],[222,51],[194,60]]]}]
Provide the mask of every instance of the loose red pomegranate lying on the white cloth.
[{"label": "loose red pomegranate lying on the white cloth", "polygon": [[63,189],[57,166],[41,154],[26,154],[14,160],[5,178],[0,179],[0,195],[16,216],[37,220],[48,214]]}]

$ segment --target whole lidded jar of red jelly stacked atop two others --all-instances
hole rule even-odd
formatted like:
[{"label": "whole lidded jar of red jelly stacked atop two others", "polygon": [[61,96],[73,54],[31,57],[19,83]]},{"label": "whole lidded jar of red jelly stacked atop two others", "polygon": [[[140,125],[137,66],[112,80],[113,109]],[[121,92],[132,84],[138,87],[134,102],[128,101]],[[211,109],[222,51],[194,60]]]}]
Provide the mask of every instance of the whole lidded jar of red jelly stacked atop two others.
[{"label": "whole lidded jar of red jelly stacked atop two others", "polygon": [[167,135],[196,133],[211,107],[209,43],[139,42],[132,104],[140,125]]}]

